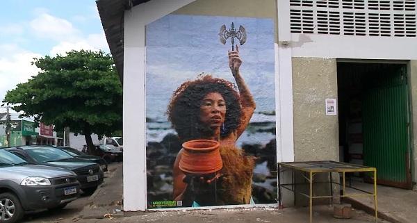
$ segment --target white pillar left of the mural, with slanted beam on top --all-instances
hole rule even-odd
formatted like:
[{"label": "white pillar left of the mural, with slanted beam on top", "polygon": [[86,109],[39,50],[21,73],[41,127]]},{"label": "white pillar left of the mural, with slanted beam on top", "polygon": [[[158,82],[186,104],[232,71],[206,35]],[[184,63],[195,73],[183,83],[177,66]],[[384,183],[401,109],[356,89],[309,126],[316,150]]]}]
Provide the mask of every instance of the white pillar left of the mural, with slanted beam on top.
[{"label": "white pillar left of the mural, with slanted beam on top", "polygon": [[153,0],[124,14],[123,194],[124,210],[145,210],[145,25],[193,0]]}]

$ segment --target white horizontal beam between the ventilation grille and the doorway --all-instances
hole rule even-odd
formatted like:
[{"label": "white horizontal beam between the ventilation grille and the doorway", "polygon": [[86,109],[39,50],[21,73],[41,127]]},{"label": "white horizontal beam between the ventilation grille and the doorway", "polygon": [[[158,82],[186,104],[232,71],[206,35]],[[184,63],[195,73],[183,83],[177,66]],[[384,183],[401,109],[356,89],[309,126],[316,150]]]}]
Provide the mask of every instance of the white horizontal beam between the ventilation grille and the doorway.
[{"label": "white horizontal beam between the ventilation grille and the doorway", "polygon": [[416,60],[417,38],[291,33],[293,57]]}]

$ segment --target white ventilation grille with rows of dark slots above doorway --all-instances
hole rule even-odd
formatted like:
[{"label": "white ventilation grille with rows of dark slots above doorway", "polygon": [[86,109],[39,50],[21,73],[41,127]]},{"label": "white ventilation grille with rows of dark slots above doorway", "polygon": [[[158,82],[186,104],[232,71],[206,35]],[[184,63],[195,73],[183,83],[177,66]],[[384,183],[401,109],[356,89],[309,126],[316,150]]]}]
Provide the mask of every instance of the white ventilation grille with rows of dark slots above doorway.
[{"label": "white ventilation grille with rows of dark slots above doorway", "polygon": [[417,0],[290,0],[291,33],[416,37]]}]

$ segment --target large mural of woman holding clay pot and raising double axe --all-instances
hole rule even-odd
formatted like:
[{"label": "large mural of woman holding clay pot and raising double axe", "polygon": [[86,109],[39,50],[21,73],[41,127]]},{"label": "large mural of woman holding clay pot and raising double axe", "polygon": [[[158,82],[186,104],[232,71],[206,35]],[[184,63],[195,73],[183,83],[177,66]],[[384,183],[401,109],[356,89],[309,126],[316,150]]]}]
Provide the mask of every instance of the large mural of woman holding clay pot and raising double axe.
[{"label": "large mural of woman holding clay pot and raising double axe", "polygon": [[274,33],[247,17],[147,25],[148,208],[276,203]]}]

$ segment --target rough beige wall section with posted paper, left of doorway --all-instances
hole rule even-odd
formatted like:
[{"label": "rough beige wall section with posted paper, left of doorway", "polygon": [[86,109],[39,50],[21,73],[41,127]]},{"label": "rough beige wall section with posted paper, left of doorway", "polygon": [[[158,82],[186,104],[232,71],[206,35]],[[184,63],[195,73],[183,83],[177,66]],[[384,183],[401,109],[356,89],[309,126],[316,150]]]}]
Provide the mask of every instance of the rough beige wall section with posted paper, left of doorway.
[{"label": "rough beige wall section with posted paper, left of doorway", "polygon": [[295,161],[338,161],[338,116],[325,115],[337,99],[336,59],[293,58]]}]

